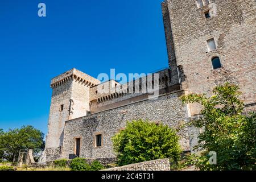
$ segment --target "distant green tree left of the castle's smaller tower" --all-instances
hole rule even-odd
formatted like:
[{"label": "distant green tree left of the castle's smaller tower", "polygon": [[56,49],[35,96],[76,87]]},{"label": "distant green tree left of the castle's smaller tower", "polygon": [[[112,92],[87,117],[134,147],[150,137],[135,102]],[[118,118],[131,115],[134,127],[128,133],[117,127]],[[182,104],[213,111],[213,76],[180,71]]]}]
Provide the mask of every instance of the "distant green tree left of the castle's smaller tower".
[{"label": "distant green tree left of the castle's smaller tower", "polygon": [[39,152],[44,148],[43,139],[44,134],[33,126],[22,126],[7,132],[0,130],[0,159],[12,161],[20,149]]}]

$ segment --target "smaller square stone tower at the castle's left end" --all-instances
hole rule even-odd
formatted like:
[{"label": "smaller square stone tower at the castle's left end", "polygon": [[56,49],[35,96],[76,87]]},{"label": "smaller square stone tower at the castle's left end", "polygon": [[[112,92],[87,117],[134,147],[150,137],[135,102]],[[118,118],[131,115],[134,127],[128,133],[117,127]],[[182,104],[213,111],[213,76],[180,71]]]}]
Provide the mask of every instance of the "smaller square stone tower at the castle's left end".
[{"label": "smaller square stone tower at the castle's left end", "polygon": [[75,68],[52,79],[46,148],[61,150],[65,121],[87,115],[90,87],[98,84],[99,80]]}]

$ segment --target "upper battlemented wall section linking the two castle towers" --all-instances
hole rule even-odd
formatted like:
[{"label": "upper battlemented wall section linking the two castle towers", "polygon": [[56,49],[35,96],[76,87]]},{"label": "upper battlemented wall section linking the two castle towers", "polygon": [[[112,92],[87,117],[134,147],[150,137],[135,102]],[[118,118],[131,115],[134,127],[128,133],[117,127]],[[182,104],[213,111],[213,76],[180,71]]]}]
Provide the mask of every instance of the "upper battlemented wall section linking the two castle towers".
[{"label": "upper battlemented wall section linking the two castle towers", "polygon": [[[158,86],[155,85],[156,87],[154,86],[154,84],[156,84],[154,78],[155,73],[158,74]],[[159,94],[164,94],[180,89],[179,86],[172,84],[170,69],[163,69],[155,73],[152,74],[152,80],[148,80],[148,76],[138,78],[125,84],[119,84],[114,80],[110,80],[106,82],[106,84],[108,84],[106,88],[109,89],[106,89],[107,93],[97,92],[98,86],[103,86],[104,84],[90,88],[90,112],[95,113],[117,105],[125,105],[127,103],[144,100],[155,91]],[[148,84],[151,85],[149,88]]]}]

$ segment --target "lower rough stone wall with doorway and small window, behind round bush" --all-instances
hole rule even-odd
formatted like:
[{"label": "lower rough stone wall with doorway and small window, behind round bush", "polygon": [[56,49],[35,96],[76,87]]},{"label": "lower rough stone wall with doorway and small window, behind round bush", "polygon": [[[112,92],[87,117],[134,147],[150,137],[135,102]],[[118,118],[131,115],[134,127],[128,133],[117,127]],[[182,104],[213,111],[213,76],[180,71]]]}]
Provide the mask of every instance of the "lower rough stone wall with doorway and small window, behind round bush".
[{"label": "lower rough stone wall with doorway and small window, behind round bush", "polygon": [[[187,107],[179,99],[183,94],[184,91],[180,90],[159,96],[157,100],[139,101],[65,122],[61,157],[68,159],[69,154],[75,154],[75,138],[80,138],[81,158],[114,158],[112,137],[125,128],[127,121],[134,119],[148,119],[170,127],[179,127],[187,118]],[[95,147],[96,133],[102,134],[101,147]],[[180,130],[178,134],[183,150],[190,150],[187,128]]]}]

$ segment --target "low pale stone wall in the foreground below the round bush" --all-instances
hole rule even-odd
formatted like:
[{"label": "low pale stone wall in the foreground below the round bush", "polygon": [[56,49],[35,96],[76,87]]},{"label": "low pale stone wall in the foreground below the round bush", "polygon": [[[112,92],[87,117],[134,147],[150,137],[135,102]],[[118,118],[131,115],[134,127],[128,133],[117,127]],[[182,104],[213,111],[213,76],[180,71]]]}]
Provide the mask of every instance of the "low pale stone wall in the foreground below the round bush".
[{"label": "low pale stone wall in the foreground below the round bush", "polygon": [[122,167],[104,169],[102,171],[170,171],[169,159],[151,160]]}]

